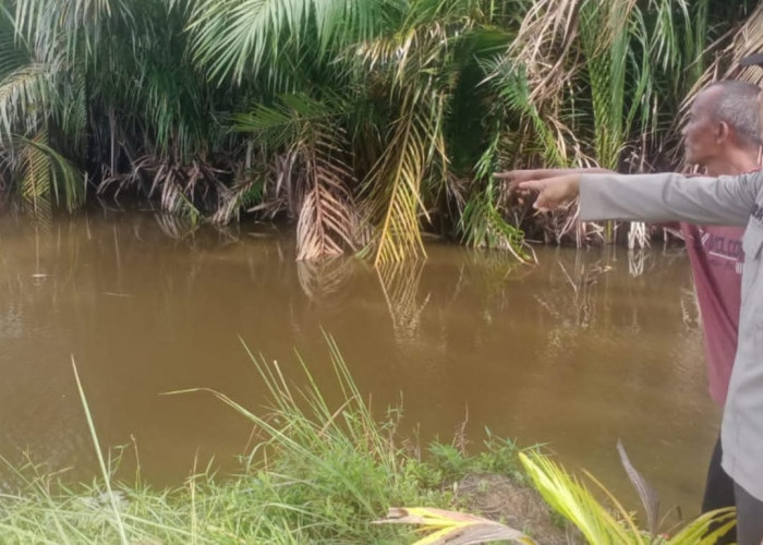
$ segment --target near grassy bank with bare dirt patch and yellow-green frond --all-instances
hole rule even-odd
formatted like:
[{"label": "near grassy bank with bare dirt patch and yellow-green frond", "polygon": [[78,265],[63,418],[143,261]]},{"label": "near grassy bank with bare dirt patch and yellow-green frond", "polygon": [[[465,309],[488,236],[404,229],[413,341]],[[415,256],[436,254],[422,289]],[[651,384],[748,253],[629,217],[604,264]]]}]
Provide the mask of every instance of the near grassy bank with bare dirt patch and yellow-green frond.
[{"label": "near grassy bank with bare dirt patch and yellow-green frond", "polygon": [[[413,543],[421,534],[410,524],[374,523],[402,506],[473,512],[543,544],[668,543],[650,537],[657,535],[656,526],[640,531],[615,498],[615,508],[603,508],[547,459],[526,457],[511,441],[489,433],[482,451],[472,456],[458,440],[433,443],[423,452],[399,441],[400,412],[374,417],[336,346],[328,342],[342,392],[339,404],[324,398],[304,363],[308,386],[296,389],[277,363],[252,354],[270,392],[271,407],[265,414],[254,414],[213,390],[174,392],[216,396],[249,419],[256,436],[237,475],[194,470],[177,489],[153,489],[114,477],[80,385],[101,477],[71,486],[32,464],[11,468],[15,485],[0,491],[0,543]],[[560,514],[552,514],[533,487]],[[582,533],[562,530],[564,518]],[[694,524],[689,534],[685,531],[689,540],[675,543],[701,543],[694,537],[704,533],[706,522]]]}]

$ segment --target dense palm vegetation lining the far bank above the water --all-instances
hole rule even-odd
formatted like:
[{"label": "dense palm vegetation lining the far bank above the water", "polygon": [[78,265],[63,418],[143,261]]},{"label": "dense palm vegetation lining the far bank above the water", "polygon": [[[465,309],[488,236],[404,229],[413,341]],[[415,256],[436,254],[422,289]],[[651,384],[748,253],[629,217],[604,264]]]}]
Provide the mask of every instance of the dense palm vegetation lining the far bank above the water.
[{"label": "dense palm vegetation lining the far bank above the water", "polygon": [[10,0],[0,186],[41,217],[126,195],[191,225],[288,217],[299,258],[399,261],[422,230],[583,241],[492,172],[675,168],[681,99],[763,47],[758,4]]}]

